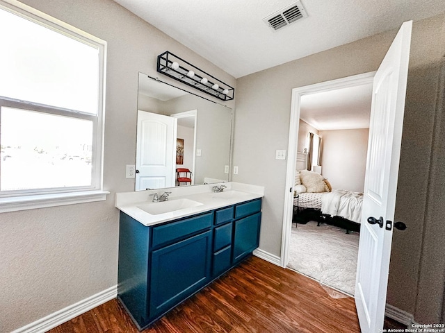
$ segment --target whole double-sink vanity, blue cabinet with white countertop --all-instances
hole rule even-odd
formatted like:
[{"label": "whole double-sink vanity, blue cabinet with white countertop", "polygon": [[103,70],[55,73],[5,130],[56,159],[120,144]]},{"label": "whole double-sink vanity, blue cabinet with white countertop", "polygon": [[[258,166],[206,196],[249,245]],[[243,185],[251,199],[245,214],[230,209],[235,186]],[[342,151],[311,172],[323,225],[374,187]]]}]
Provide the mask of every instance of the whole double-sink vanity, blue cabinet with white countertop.
[{"label": "whole double-sink vanity, blue cabinet with white countertop", "polygon": [[118,299],[139,330],[258,247],[264,188],[225,185],[175,188],[164,203],[151,202],[154,191],[116,195]]}]

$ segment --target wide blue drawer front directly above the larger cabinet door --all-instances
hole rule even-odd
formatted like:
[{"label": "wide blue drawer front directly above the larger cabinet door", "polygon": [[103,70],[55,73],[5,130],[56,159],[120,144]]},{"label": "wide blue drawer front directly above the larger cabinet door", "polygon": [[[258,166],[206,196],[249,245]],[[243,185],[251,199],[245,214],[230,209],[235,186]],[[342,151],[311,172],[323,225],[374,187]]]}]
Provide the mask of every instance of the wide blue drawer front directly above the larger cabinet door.
[{"label": "wide blue drawer front directly above the larger cabinet door", "polygon": [[153,228],[152,248],[181,239],[188,234],[210,228],[213,222],[213,212],[193,216],[177,222],[159,225]]}]

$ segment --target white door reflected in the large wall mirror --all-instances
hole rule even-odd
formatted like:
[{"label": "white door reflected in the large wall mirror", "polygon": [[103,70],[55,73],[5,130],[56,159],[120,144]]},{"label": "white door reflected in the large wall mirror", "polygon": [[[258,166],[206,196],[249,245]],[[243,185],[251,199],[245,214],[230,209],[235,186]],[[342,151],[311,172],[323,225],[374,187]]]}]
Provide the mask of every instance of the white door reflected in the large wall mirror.
[{"label": "white door reflected in the large wall mirror", "polygon": [[177,119],[138,111],[136,191],[175,186]]}]

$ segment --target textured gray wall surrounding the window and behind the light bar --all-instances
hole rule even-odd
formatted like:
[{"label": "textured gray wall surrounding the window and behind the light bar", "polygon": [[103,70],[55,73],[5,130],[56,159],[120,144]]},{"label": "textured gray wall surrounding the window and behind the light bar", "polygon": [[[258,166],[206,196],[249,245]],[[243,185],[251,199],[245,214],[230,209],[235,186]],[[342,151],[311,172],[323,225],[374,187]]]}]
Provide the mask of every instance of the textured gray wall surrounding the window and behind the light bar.
[{"label": "textured gray wall surrounding the window and behind the light bar", "polygon": [[[125,178],[125,164],[135,163],[139,72],[161,76],[156,56],[168,50],[236,86],[232,76],[113,1],[22,2],[108,42],[104,189],[111,194],[99,203],[0,214],[0,332],[117,284],[119,215],[114,197],[117,191],[134,190],[134,180]],[[163,80],[177,84],[166,76]]]}]

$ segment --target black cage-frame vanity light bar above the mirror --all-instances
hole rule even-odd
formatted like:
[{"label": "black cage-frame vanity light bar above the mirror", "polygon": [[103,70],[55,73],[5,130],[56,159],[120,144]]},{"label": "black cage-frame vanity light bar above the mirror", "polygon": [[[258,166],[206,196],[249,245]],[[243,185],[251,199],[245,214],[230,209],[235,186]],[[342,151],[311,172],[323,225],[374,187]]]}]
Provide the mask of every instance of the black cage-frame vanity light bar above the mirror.
[{"label": "black cage-frame vanity light bar above the mirror", "polygon": [[158,56],[157,71],[214,96],[217,99],[223,101],[234,99],[235,89],[233,87],[230,87],[223,81],[218,80],[169,51],[165,51]]}]

